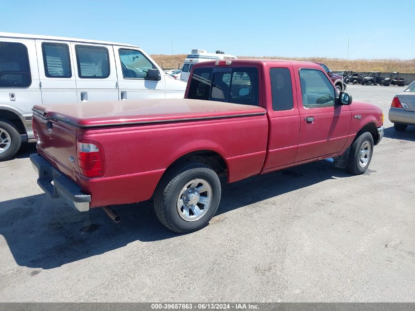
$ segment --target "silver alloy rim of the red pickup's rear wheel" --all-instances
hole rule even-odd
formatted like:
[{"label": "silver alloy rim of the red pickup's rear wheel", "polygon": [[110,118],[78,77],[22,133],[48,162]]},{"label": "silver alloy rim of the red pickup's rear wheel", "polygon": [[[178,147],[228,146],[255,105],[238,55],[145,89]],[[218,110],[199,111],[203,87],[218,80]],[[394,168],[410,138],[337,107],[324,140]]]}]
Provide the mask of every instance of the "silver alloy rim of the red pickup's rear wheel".
[{"label": "silver alloy rim of the red pickup's rear wheel", "polygon": [[201,178],[196,178],[182,188],[177,198],[177,212],[183,220],[194,222],[202,218],[212,204],[212,187]]}]

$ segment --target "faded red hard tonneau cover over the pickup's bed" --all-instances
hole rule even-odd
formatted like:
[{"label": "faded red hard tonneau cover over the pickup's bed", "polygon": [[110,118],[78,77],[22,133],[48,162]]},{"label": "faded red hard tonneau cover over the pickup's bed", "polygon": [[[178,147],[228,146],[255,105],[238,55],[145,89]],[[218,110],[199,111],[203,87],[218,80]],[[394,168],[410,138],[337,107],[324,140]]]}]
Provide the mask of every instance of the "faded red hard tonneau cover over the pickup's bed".
[{"label": "faded red hard tonneau cover over the pickup's bed", "polygon": [[36,105],[33,113],[79,127],[156,123],[265,114],[258,106],[195,99],[149,99]]}]

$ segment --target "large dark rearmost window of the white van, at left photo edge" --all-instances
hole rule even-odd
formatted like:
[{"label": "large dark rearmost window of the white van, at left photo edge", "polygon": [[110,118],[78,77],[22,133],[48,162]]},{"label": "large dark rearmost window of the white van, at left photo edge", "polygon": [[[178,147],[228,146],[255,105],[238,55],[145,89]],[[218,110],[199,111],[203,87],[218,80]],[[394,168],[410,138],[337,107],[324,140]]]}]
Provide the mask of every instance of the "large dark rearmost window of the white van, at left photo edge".
[{"label": "large dark rearmost window of the white van, at left photo edge", "polygon": [[28,87],[32,83],[28,48],[17,42],[0,42],[0,87]]}]

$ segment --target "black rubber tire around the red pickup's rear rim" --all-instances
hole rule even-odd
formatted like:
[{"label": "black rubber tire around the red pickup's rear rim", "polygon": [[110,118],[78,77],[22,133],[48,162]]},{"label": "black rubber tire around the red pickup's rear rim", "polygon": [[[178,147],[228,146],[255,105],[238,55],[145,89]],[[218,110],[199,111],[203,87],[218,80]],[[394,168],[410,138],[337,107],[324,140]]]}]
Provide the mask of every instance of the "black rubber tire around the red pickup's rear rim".
[{"label": "black rubber tire around the red pickup's rear rim", "polygon": [[[194,179],[202,179],[209,184],[212,199],[201,218],[186,221],[179,215],[177,202],[183,188]],[[169,169],[160,180],[155,191],[154,210],[164,226],[177,233],[187,233],[206,226],[216,214],[220,201],[221,182],[215,171],[197,162],[185,162]]]}]

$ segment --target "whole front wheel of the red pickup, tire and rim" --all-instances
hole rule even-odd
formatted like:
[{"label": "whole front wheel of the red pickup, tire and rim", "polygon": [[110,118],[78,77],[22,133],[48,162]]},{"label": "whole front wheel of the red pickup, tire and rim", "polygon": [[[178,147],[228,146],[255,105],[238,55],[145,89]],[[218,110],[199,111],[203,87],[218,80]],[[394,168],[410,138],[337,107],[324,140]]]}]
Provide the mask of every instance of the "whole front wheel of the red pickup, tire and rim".
[{"label": "whole front wheel of the red pickup, tire and rim", "polygon": [[360,134],[350,146],[346,170],[354,175],[363,174],[372,160],[373,146],[372,134],[369,132]]}]

